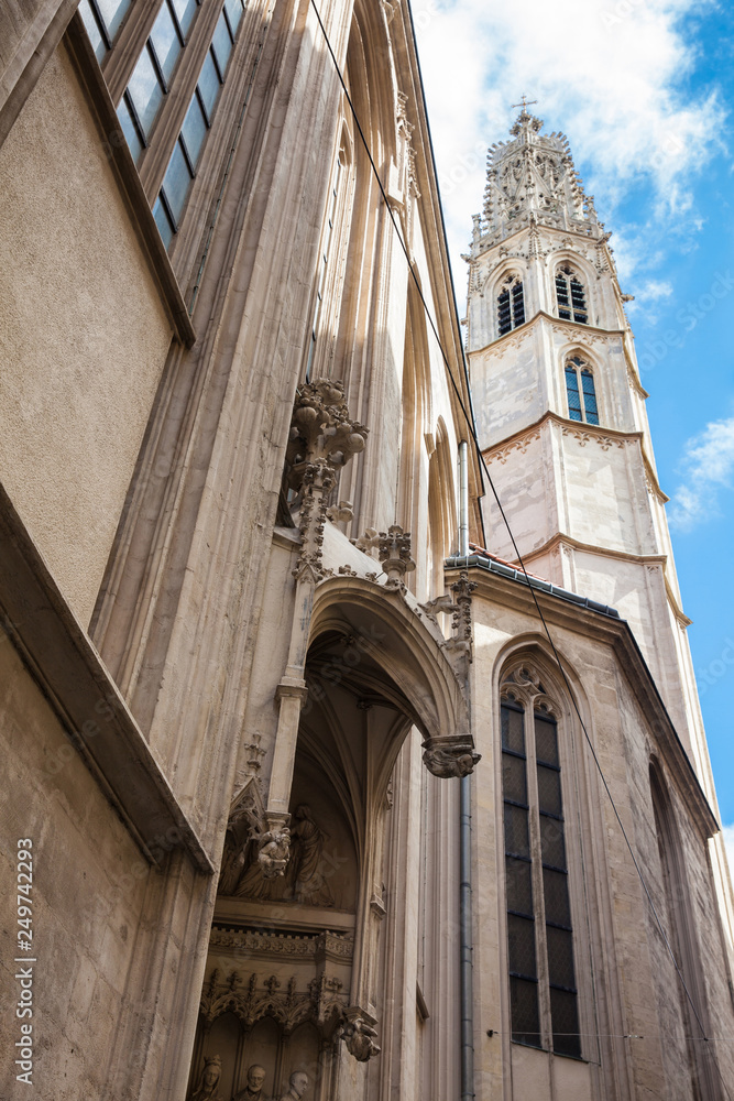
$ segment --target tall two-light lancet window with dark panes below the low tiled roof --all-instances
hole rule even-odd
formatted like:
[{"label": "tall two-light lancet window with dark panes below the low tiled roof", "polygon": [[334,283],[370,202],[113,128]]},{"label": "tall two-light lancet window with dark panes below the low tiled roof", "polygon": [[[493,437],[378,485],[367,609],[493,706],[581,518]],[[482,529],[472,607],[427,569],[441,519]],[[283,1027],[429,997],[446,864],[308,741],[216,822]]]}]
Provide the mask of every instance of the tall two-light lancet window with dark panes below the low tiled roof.
[{"label": "tall two-light lancet window with dark panes below the low tiled roof", "polygon": [[580,1056],[558,719],[527,667],[503,685],[501,718],[512,1038]]}]

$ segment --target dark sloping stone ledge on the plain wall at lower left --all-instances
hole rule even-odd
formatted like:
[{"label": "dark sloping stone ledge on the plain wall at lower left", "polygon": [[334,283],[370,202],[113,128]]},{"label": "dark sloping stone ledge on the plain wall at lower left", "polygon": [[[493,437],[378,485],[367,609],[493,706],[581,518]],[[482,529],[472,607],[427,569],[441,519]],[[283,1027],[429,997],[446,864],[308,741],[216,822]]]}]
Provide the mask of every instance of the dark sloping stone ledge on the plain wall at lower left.
[{"label": "dark sloping stone ledge on the plain wall at lower left", "polygon": [[[0,486],[2,628],[96,783],[151,863],[179,840],[198,871],[213,865],[89,636]],[[158,855],[155,855],[155,853]]]}]

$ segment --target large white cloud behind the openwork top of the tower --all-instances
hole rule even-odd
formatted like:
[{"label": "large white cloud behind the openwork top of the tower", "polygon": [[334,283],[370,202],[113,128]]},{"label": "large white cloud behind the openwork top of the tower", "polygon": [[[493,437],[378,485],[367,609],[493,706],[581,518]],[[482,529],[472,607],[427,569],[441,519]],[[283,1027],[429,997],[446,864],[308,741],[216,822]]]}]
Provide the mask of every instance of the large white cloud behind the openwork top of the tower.
[{"label": "large white cloud behind the openwork top of the tower", "polygon": [[[639,182],[651,185],[650,229],[692,230],[690,182],[720,141],[715,94],[691,98],[683,84],[697,57],[684,17],[713,0],[414,0],[428,113],[452,257],[465,250],[481,209],[484,149],[504,140],[525,92],[547,131],[565,130],[588,193],[609,219]],[[643,227],[644,230],[644,227]],[[649,270],[638,239],[629,263]],[[465,280],[456,269],[457,290]]]}]

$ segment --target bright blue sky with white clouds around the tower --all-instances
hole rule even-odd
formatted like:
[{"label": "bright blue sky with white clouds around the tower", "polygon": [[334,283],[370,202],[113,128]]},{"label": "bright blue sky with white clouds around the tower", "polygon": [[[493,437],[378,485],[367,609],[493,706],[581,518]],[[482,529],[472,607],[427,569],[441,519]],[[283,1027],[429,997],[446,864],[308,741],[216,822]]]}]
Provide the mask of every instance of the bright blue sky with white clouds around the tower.
[{"label": "bright blue sky with white clouds around the tower", "polygon": [[413,0],[459,307],[486,148],[526,94],[563,131],[634,294],[722,821],[734,842],[734,10]]}]

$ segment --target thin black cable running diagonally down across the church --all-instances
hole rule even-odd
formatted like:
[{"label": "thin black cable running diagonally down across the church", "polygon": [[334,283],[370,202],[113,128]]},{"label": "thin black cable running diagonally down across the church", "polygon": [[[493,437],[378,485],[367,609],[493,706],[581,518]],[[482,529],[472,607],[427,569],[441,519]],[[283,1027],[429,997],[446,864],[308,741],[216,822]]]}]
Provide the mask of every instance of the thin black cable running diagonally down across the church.
[{"label": "thin black cable running diagonally down across the church", "polygon": [[[344,96],[347,98],[347,102],[349,103],[349,108],[350,108],[350,110],[352,112],[352,118],[354,119],[354,124],[355,124],[355,127],[357,127],[357,129],[359,131],[359,135],[360,135],[360,138],[362,140],[362,144],[364,145],[364,151],[365,151],[365,153],[368,155],[368,159],[370,161],[370,165],[372,167],[372,172],[374,174],[375,179],[377,181],[377,186],[380,188],[380,193],[381,193],[383,201],[385,204],[385,208],[387,210],[387,214],[390,215],[391,221],[392,221],[393,227],[395,229],[395,232],[397,235],[397,239],[398,239],[398,241],[401,243],[403,252],[405,253],[405,259],[406,259],[407,264],[408,264],[408,271],[410,273],[413,282],[415,283],[415,286],[416,286],[416,290],[417,290],[418,295],[420,297],[420,302],[423,304],[426,317],[428,319],[430,328],[431,328],[431,330],[434,333],[434,336],[436,338],[436,341],[438,344],[438,348],[439,348],[439,351],[441,353],[441,358],[443,359],[443,363],[446,366],[446,370],[448,372],[449,379],[451,381],[451,385],[452,385],[454,394],[457,396],[457,401],[459,402],[459,406],[460,406],[461,412],[463,413],[464,419],[467,422],[467,426],[469,428],[469,432],[470,432],[471,437],[472,437],[472,442],[474,444],[474,449],[476,451],[476,457],[479,459],[480,467],[483,469],[484,473],[486,475],[486,480],[487,480],[487,482],[490,484],[490,489],[492,490],[492,494],[494,497],[494,500],[496,501],[496,504],[497,504],[497,508],[500,510],[500,514],[502,516],[503,523],[504,523],[505,527],[507,528],[507,533],[510,535],[510,538],[511,538],[511,542],[512,542],[512,545],[513,545],[513,549],[515,552],[516,560],[519,564],[519,567],[521,567],[523,574],[525,575],[525,581],[526,581],[528,590],[529,590],[529,592],[530,592],[530,595],[533,597],[533,601],[535,603],[535,608],[536,608],[536,611],[538,613],[538,618],[539,618],[540,622],[543,623],[543,628],[544,628],[544,631],[546,633],[546,637],[548,639],[548,643],[549,643],[549,645],[550,645],[550,647],[552,650],[554,657],[555,657],[556,663],[558,665],[558,668],[560,671],[561,677],[563,679],[563,684],[566,685],[569,698],[571,699],[571,701],[573,704],[573,709],[574,709],[574,711],[577,713],[577,717],[578,717],[579,723],[581,726],[581,729],[583,731],[587,744],[589,745],[589,749],[591,751],[591,755],[592,755],[594,764],[596,766],[596,771],[599,772],[599,775],[601,777],[602,784],[604,786],[604,791],[606,792],[606,795],[609,796],[610,804],[612,805],[612,810],[614,811],[614,817],[616,818],[617,825],[618,825],[620,830],[622,832],[622,837],[624,838],[625,844],[626,844],[626,847],[627,847],[627,849],[629,851],[629,855],[632,858],[632,862],[633,862],[633,864],[635,866],[635,870],[637,872],[637,875],[639,877],[639,882],[640,882],[640,884],[643,886],[643,891],[645,892],[647,901],[648,901],[648,903],[650,905],[650,909],[651,909],[653,915],[655,917],[655,922],[656,922],[656,924],[658,926],[658,929],[660,930],[660,935],[661,935],[662,940],[665,942],[665,946],[666,946],[666,948],[668,950],[670,959],[673,962],[673,966],[676,968],[676,972],[677,972],[678,978],[680,979],[682,988],[683,988],[683,990],[686,992],[686,996],[687,996],[687,999],[688,999],[688,1001],[689,1001],[689,1003],[691,1005],[691,1009],[693,1011],[693,1015],[695,1016],[695,1021],[698,1023],[698,1026],[701,1029],[701,1038],[708,1044],[709,1043],[709,1037],[706,1036],[705,1027],[703,1025],[703,1022],[701,1020],[699,1011],[698,1011],[698,1009],[695,1006],[695,1003],[694,1003],[694,1001],[693,1001],[693,999],[691,996],[691,993],[690,993],[690,991],[688,989],[688,984],[686,982],[686,978],[684,978],[684,975],[683,975],[680,967],[678,966],[678,961],[676,959],[676,955],[675,955],[675,952],[672,950],[670,941],[668,940],[668,937],[667,937],[667,934],[665,931],[665,928],[662,927],[662,923],[660,920],[660,917],[658,916],[658,912],[657,912],[657,909],[655,907],[655,903],[653,902],[653,896],[650,895],[650,892],[648,890],[647,883],[645,882],[645,876],[643,875],[643,871],[642,871],[642,869],[639,866],[637,858],[635,857],[635,852],[634,852],[634,849],[632,847],[632,842],[631,842],[631,840],[629,840],[629,838],[627,836],[626,829],[624,828],[624,824],[622,821],[622,818],[620,817],[620,813],[618,813],[618,810],[616,808],[616,804],[615,804],[614,798],[612,796],[612,792],[611,792],[610,786],[609,786],[609,784],[606,782],[606,777],[604,776],[604,772],[602,770],[601,762],[599,760],[599,756],[596,755],[596,751],[594,750],[593,743],[592,743],[591,738],[589,735],[589,731],[587,730],[587,724],[583,721],[583,718],[581,716],[581,711],[579,710],[579,705],[578,705],[578,702],[576,700],[576,695],[574,695],[573,690],[571,689],[571,685],[569,683],[568,676],[566,675],[566,671],[563,668],[562,662],[560,659],[560,655],[558,653],[558,650],[556,648],[556,644],[555,644],[555,642],[552,640],[552,636],[550,634],[550,630],[548,629],[548,623],[546,621],[545,615],[543,614],[543,609],[540,608],[540,603],[538,601],[538,597],[537,597],[537,593],[535,591],[535,587],[533,585],[530,585],[530,579],[529,579],[527,570],[525,568],[525,563],[523,562],[523,556],[519,553],[519,548],[518,548],[517,543],[515,541],[515,536],[513,534],[513,530],[512,530],[512,527],[510,525],[510,521],[507,520],[507,515],[505,513],[505,510],[502,506],[502,502],[500,500],[500,495],[499,495],[499,493],[496,491],[496,488],[494,486],[494,481],[492,480],[492,476],[490,473],[489,467],[487,467],[486,461],[484,459],[484,456],[482,454],[482,449],[481,449],[479,439],[476,438],[476,429],[475,429],[475,426],[474,426],[473,417],[470,416],[470,414],[469,414],[469,412],[467,410],[467,406],[464,404],[461,391],[459,390],[457,381],[453,378],[453,372],[451,370],[451,364],[449,362],[449,359],[448,359],[448,356],[447,356],[446,351],[443,350],[443,344],[442,344],[441,338],[440,338],[440,336],[438,334],[438,329],[436,327],[436,323],[434,321],[434,318],[431,316],[430,309],[428,308],[428,304],[427,304],[427,302],[426,302],[426,299],[424,297],[423,288],[420,286],[419,281],[418,281],[418,277],[417,277],[417,275],[416,275],[416,273],[414,271],[413,263],[410,261],[410,255],[409,255],[407,246],[406,246],[405,241],[403,240],[403,235],[401,232],[399,226],[398,226],[397,220],[395,218],[395,214],[394,214],[393,208],[392,208],[392,206],[390,204],[390,200],[387,198],[387,194],[386,194],[385,188],[383,186],[382,179],[380,178],[380,173],[377,172],[377,166],[374,163],[374,159],[372,156],[372,152],[370,150],[369,142],[368,142],[365,135],[364,135],[364,131],[362,130],[362,126],[361,126],[359,117],[357,115],[357,110],[354,109],[354,105],[353,105],[352,98],[351,98],[351,96],[349,94],[349,89],[347,88],[347,83],[346,83],[343,74],[341,72],[341,67],[339,65],[339,62],[337,61],[337,57],[335,55],[335,52],[333,52],[332,47],[331,47],[331,42],[329,41],[329,35],[327,34],[326,28],[324,26],[324,23],[321,21],[321,15],[320,15],[319,10],[318,10],[318,8],[316,6],[316,0],[310,0],[310,3],[311,3],[311,7],[314,9],[314,12],[316,14],[316,19],[318,20],[319,28],[321,29],[321,33],[324,35],[324,41],[326,42],[327,50],[328,50],[329,54],[331,55],[331,61],[333,62],[333,66],[336,68],[337,75],[339,77],[339,81],[341,84],[342,90],[343,90]],[[410,21],[413,22],[413,15],[410,15]],[[423,79],[421,79],[421,88],[423,88]],[[434,151],[432,151],[432,144],[431,144],[431,157],[432,156],[434,156]],[[434,166],[434,172],[436,172],[435,161],[434,161],[434,165],[432,166]],[[440,196],[439,196],[439,204],[440,204]],[[442,211],[441,211],[441,217],[442,217]],[[462,351],[462,358],[464,358],[463,341],[460,340],[459,344],[460,344],[461,351]],[[467,381],[468,381],[468,374],[465,372],[465,358],[464,358],[464,373],[467,375]],[[714,1067],[716,1068],[716,1071],[717,1071],[719,1077],[721,1079],[721,1083],[722,1083],[722,1086],[724,1088],[726,1097],[730,1099],[730,1101],[732,1101],[732,1095],[731,1095],[731,1093],[728,1091],[726,1082],[724,1081],[724,1077],[723,1077],[723,1075],[721,1072],[721,1068],[719,1067],[719,1060],[716,1059],[716,1057],[715,1057],[712,1048],[706,1048],[706,1050],[711,1055],[711,1058],[713,1060]]]}]

